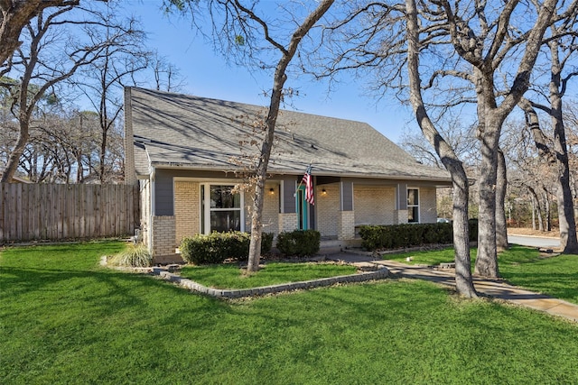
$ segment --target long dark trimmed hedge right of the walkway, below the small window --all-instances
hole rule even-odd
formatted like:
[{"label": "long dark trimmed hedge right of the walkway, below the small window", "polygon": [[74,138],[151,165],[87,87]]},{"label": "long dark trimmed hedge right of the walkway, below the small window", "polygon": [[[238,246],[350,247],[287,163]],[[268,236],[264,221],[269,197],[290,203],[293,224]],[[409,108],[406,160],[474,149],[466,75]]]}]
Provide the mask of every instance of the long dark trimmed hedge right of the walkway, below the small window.
[{"label": "long dark trimmed hedge right of the walkway, below the small window", "polygon": [[[468,221],[470,241],[478,239],[478,220]],[[364,225],[359,228],[367,250],[397,249],[431,243],[453,243],[452,224]]]}]

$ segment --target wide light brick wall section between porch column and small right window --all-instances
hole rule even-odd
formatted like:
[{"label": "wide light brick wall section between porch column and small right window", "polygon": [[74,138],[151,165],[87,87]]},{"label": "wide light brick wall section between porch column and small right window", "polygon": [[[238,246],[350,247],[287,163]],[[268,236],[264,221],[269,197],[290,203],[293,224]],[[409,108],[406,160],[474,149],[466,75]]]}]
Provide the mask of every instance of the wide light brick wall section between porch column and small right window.
[{"label": "wide light brick wall section between porch column and small right window", "polygon": [[355,225],[394,225],[396,188],[355,185],[353,208]]}]

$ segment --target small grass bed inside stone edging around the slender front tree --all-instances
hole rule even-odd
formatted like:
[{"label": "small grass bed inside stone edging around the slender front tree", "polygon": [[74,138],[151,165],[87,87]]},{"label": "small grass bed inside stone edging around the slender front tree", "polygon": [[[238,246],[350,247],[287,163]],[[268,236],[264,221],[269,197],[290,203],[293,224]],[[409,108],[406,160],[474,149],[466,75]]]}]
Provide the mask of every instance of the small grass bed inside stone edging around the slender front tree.
[{"label": "small grass bed inside stone edging around the slender front tree", "polygon": [[356,268],[334,263],[267,263],[257,274],[247,275],[237,264],[187,266],[181,276],[217,289],[249,289],[260,286],[354,274]]}]

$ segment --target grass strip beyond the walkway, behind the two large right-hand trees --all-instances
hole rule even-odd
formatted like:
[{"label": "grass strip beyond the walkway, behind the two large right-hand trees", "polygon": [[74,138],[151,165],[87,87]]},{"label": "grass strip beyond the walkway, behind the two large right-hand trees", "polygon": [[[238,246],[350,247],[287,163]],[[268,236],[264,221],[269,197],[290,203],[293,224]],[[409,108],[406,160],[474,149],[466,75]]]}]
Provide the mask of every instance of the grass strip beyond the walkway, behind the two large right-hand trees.
[{"label": "grass strip beyond the walkway, behind the two large right-hand trees", "polygon": [[[471,249],[473,270],[477,249]],[[453,261],[453,249],[432,252],[407,252],[384,258],[409,263],[435,265]],[[544,293],[578,304],[578,255],[540,256],[536,248],[513,245],[499,253],[499,273],[512,285]]]}]

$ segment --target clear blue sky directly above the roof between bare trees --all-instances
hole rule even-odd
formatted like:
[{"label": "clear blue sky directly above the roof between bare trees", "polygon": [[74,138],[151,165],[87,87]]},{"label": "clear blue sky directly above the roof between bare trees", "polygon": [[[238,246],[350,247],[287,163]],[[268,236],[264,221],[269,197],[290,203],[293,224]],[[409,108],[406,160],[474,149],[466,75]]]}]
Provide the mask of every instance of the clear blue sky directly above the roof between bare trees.
[{"label": "clear blue sky directly above the roof between bare trees", "polygon": [[[263,91],[272,87],[272,78],[247,68],[227,64],[192,28],[190,20],[179,16],[168,18],[159,10],[160,0],[127,1],[126,11],[141,19],[149,35],[149,47],[159,51],[181,70],[186,78],[182,92],[254,105],[268,105]],[[404,127],[417,130],[409,108],[395,98],[376,101],[364,96],[363,84],[353,78],[342,79],[327,93],[327,84],[312,78],[288,78],[286,87],[297,88],[295,109],[303,113],[327,115],[371,124],[393,142],[398,142]],[[291,107],[286,107],[292,109]]]}]

